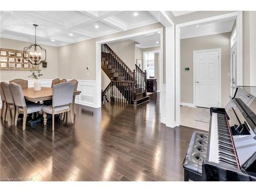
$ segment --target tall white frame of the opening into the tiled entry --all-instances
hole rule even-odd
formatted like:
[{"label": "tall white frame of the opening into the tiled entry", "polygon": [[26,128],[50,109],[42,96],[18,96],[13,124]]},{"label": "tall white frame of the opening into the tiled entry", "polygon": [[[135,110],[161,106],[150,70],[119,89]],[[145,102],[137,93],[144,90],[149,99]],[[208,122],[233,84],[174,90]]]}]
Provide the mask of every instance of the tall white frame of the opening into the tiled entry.
[{"label": "tall white frame of the opening into the tiled entry", "polygon": [[[237,85],[243,86],[243,11],[236,11],[213,17],[207,17],[175,26],[175,124],[180,125],[180,29],[187,26],[197,26],[214,20],[235,18],[237,21]],[[167,66],[166,66],[167,68]],[[166,69],[167,71],[167,69]]]}]

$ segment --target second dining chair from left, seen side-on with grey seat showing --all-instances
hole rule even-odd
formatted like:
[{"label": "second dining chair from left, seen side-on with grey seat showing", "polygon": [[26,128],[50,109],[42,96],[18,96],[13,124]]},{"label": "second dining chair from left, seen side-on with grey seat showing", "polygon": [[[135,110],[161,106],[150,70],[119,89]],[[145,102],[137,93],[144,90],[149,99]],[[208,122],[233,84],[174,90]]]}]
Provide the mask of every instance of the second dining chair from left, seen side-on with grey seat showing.
[{"label": "second dining chair from left, seen side-on with grey seat showing", "polygon": [[17,125],[18,115],[23,114],[23,130],[26,130],[27,115],[41,111],[45,105],[40,103],[26,103],[25,97],[22,91],[22,86],[14,82],[10,83],[11,92],[13,95],[14,103],[16,105],[14,125]]}]

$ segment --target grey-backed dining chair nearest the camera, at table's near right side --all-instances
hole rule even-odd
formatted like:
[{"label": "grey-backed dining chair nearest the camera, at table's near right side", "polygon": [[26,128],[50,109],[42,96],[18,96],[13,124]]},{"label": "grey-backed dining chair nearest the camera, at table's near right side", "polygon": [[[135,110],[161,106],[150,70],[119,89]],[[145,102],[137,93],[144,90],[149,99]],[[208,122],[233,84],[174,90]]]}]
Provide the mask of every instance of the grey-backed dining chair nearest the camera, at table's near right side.
[{"label": "grey-backed dining chair nearest the camera, at table's near right side", "polygon": [[70,112],[71,122],[74,123],[73,117],[73,95],[74,84],[71,82],[61,82],[53,86],[52,105],[42,108],[44,118],[47,114],[52,114],[52,131],[54,131],[54,115]]}]

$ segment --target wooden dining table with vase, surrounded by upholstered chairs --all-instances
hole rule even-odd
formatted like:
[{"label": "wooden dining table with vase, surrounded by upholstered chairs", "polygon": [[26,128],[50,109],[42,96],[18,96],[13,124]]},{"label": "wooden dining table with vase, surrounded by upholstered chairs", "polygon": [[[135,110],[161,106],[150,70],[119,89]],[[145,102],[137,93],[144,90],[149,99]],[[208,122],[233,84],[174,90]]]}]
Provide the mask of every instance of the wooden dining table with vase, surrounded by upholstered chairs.
[{"label": "wooden dining table with vase, surrounded by upholstered chairs", "polygon": [[[26,100],[31,102],[52,100],[53,91],[49,87],[41,87],[40,91],[34,91],[34,88],[23,88],[23,94]],[[74,96],[79,95],[81,91],[74,91]],[[47,118],[44,116],[44,124]]]}]

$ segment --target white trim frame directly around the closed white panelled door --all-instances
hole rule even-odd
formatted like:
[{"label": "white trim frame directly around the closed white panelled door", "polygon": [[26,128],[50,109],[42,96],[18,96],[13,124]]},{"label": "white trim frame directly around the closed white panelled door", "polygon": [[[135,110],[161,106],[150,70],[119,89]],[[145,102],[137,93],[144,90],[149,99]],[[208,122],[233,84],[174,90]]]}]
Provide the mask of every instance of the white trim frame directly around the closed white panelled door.
[{"label": "white trim frame directly around the closed white panelled door", "polygon": [[196,93],[196,53],[200,53],[200,52],[210,52],[210,51],[218,51],[219,52],[219,70],[218,70],[218,75],[219,75],[219,83],[218,83],[218,90],[219,90],[219,94],[218,94],[218,98],[219,98],[219,105],[218,107],[222,106],[222,101],[221,101],[221,48],[218,49],[205,49],[205,50],[195,50],[193,51],[193,106],[196,107],[196,103],[197,103],[197,93]]}]

